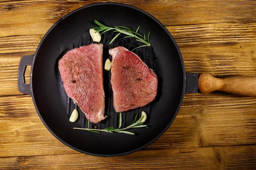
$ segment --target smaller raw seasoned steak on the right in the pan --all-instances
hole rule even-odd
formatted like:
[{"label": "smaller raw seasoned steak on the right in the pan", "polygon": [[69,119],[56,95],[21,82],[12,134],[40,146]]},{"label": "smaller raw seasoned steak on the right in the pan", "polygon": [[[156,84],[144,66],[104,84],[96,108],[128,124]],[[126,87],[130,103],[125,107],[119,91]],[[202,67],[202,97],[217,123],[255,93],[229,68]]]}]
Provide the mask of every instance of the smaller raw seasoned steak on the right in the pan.
[{"label": "smaller raw seasoned steak on the right in the pan", "polygon": [[138,108],[157,95],[157,75],[135,53],[124,47],[109,50],[112,55],[110,83],[116,112]]}]

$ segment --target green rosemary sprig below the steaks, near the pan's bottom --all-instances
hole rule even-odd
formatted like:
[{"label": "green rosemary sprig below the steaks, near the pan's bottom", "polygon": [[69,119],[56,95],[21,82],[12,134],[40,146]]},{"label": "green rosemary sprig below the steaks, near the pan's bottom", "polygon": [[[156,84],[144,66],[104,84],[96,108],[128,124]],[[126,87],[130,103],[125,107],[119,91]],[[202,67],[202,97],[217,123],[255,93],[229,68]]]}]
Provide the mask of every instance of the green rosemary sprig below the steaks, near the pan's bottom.
[{"label": "green rosemary sprig below the steaks, near the pan's bottom", "polygon": [[145,122],[145,118],[146,118],[146,114],[141,115],[141,117],[137,119],[138,113],[135,116],[134,121],[132,122],[131,125],[127,126],[126,128],[121,128],[122,126],[122,113],[119,113],[119,126],[118,128],[114,128],[113,126],[105,128],[105,129],[90,129],[90,121],[88,119],[88,128],[73,128],[73,129],[79,129],[79,130],[88,130],[90,132],[95,132],[95,133],[100,133],[100,132],[108,132],[108,133],[113,133],[113,132],[117,132],[117,133],[126,133],[129,135],[135,135],[135,133],[133,132],[129,132],[126,131],[127,129],[130,128],[143,128],[143,127],[147,127],[147,125],[143,125]]}]

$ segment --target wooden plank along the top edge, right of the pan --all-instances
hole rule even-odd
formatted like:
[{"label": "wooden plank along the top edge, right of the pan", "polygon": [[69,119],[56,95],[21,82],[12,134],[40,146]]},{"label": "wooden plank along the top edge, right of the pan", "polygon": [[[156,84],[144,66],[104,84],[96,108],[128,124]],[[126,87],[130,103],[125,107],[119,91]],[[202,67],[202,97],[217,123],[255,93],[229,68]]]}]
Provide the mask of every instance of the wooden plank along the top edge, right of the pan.
[{"label": "wooden plank along the top edge, right of the pan", "polygon": [[[130,2],[130,1],[129,1]],[[130,2],[165,26],[226,22],[255,22],[255,2],[243,0],[186,0]]]}]

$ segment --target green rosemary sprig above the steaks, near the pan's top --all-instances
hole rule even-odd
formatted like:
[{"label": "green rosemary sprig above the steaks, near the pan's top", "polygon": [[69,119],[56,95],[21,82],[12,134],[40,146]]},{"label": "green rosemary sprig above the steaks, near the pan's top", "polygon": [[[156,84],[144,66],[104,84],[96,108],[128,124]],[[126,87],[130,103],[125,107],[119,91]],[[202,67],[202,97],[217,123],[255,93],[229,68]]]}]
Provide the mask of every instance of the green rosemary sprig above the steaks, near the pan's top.
[{"label": "green rosemary sprig above the steaks, near the pan's top", "polygon": [[[96,33],[100,32],[100,34],[103,34],[107,31],[111,31],[111,30],[113,30],[114,32],[118,32],[117,35],[115,35],[115,37],[112,38],[112,40],[109,42],[109,44],[111,44],[122,33],[124,35],[127,35],[124,38],[135,38],[135,40],[137,40],[138,42],[144,43],[144,45],[138,46],[135,49],[138,49],[138,48],[143,47],[143,46],[150,46],[151,45],[150,42],[149,42],[150,31],[148,32],[148,40],[147,40],[145,34],[139,33],[140,26],[138,26],[136,31],[133,31],[131,28],[129,28],[127,26],[110,27],[110,26],[106,26],[106,25],[101,24],[97,20],[94,20],[94,22],[95,22],[95,24],[98,25],[98,26],[93,27],[93,29],[96,30]],[[133,49],[133,50],[135,50],[135,49]]]}]

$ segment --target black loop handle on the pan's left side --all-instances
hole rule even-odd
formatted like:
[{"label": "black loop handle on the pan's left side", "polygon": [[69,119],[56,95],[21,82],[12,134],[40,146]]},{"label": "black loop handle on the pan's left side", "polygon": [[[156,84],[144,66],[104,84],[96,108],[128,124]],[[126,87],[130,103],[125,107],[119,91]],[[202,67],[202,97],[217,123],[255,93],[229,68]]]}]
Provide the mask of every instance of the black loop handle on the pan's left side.
[{"label": "black loop handle on the pan's left side", "polygon": [[30,83],[25,83],[25,71],[27,66],[31,66],[34,55],[24,55],[20,59],[19,69],[18,69],[18,89],[21,93],[26,93],[31,95]]}]

